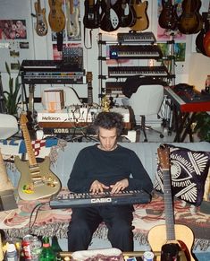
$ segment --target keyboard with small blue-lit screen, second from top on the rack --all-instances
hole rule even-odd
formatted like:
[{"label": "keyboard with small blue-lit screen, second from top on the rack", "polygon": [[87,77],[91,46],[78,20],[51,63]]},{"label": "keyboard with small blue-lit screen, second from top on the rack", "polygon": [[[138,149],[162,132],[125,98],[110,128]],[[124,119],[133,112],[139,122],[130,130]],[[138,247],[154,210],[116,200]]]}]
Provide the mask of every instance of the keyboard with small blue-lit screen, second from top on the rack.
[{"label": "keyboard with small blue-lit screen, second from top on the rack", "polygon": [[109,57],[111,59],[159,59],[163,54],[157,45],[113,45],[109,47]]}]

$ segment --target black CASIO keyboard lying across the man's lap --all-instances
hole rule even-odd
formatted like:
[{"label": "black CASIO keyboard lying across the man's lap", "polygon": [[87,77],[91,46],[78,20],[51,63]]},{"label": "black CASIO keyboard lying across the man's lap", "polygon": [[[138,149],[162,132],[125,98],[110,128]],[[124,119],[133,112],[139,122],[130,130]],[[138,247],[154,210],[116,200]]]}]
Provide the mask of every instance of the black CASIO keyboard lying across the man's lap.
[{"label": "black CASIO keyboard lying across the man's lap", "polygon": [[49,202],[51,208],[85,207],[105,204],[147,204],[151,196],[143,190],[122,191],[117,194],[104,192],[102,194],[58,194],[52,196]]}]

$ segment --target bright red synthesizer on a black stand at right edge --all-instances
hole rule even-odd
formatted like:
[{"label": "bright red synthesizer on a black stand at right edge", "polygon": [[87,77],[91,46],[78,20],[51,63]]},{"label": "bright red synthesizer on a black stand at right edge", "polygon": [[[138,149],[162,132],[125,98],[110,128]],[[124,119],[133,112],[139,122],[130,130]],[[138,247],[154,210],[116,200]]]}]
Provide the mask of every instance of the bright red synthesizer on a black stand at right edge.
[{"label": "bright red synthesizer on a black stand at right edge", "polygon": [[210,111],[210,95],[199,91],[178,91],[173,86],[164,87],[164,94],[179,107],[181,112]]}]

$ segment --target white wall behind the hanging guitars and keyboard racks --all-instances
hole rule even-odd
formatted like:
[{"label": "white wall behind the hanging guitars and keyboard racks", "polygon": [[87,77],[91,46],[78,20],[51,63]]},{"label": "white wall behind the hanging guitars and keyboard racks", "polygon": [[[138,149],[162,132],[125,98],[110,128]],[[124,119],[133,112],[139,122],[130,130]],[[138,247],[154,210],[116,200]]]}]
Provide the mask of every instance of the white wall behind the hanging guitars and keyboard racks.
[{"label": "white wall behind the hanging guitars and keyboard racks", "polygon": [[[69,0],[63,0],[69,1]],[[0,71],[2,72],[2,78],[3,78],[3,86],[4,90],[8,88],[7,82],[7,74],[5,74],[5,68],[4,68],[4,62],[7,61],[8,63],[16,63],[18,60],[21,62],[22,59],[52,59],[53,58],[53,48],[52,48],[52,36],[51,36],[51,29],[48,27],[48,32],[46,36],[39,37],[35,31],[36,27],[36,18],[31,16],[31,13],[35,13],[34,10],[34,3],[36,1],[29,1],[29,0],[1,0],[0,1],[0,17],[1,20],[3,19],[17,19],[17,20],[26,20],[27,24],[27,39],[10,39],[10,40],[4,40],[0,39]],[[77,2],[77,1],[76,1]],[[202,1],[202,7],[200,8],[200,13],[207,12],[208,10],[208,1],[203,0]],[[48,18],[48,13],[50,11],[49,4],[47,0],[41,0],[41,7],[46,8],[46,19]],[[157,1],[156,0],[148,0],[148,9],[147,14],[149,18],[149,28],[148,31],[153,31],[155,36],[157,33]],[[81,32],[81,39],[80,40],[73,40],[68,41],[68,43],[78,43],[81,44],[81,46],[84,46],[84,30],[83,30],[83,19],[84,16],[84,1],[80,0],[80,32]],[[84,52],[84,68],[87,71],[90,71],[93,73],[93,99],[96,103],[99,102],[98,99],[98,93],[100,93],[100,84],[98,81],[98,32],[102,32],[103,39],[111,42],[116,41],[116,35],[119,31],[125,31],[128,32],[130,30],[129,28],[126,29],[119,29],[113,32],[105,32],[98,29],[92,30],[92,48],[83,48]],[[89,38],[89,30],[85,30],[86,34],[86,42],[87,46],[90,46],[90,38]],[[186,39],[180,39],[177,40],[177,42],[186,42],[186,56],[185,61],[183,62],[177,62],[175,66],[175,73],[176,73],[176,83],[190,83],[195,84],[196,87],[200,90],[202,89],[203,83],[205,82],[205,79],[201,79],[200,74],[193,73],[196,69],[191,69],[191,62],[193,61],[193,65],[196,65],[199,67],[199,71],[202,71],[202,78],[206,78],[206,75],[209,74],[209,68],[210,66],[210,59],[207,57],[205,60],[205,63],[201,63],[200,61],[203,60],[202,55],[197,57],[196,50],[195,50],[195,37],[196,35],[187,35]],[[20,42],[29,42],[29,48],[28,49],[22,49],[20,48]],[[4,43],[9,43],[9,48],[5,47]],[[67,43],[66,39],[64,39],[64,44]],[[19,57],[11,57],[10,51],[17,51],[20,53]],[[105,54],[105,47],[104,47],[104,54]],[[192,57],[195,57],[195,59],[192,60]],[[143,63],[146,63],[146,61],[139,61],[139,64],[144,65]],[[103,71],[106,72],[106,66],[103,64]],[[17,71],[13,71],[14,74],[16,74]],[[197,81],[199,80],[199,81]],[[103,83],[105,85],[105,81]],[[58,85],[55,85],[58,86]],[[68,86],[70,86],[68,84]],[[35,96],[40,97],[41,91],[50,86],[46,85],[38,85],[36,84],[35,88]],[[87,84],[80,84],[76,85],[74,84],[72,86],[75,88],[75,90],[78,92],[80,97],[88,97],[88,88]],[[26,88],[26,91],[28,92],[28,87]],[[38,105],[37,105],[38,106]]]}]

